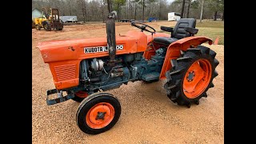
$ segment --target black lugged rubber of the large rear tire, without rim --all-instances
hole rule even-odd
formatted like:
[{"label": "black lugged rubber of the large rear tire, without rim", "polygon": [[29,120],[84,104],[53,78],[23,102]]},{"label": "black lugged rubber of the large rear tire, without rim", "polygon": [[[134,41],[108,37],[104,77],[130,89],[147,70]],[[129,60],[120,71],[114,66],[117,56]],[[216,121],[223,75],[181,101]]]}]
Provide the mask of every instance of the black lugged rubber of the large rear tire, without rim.
[{"label": "black lugged rubber of the large rear tire, without rim", "polygon": [[[167,91],[167,97],[174,103],[182,106],[185,105],[190,108],[191,103],[199,104],[199,99],[202,97],[207,97],[206,91],[214,87],[212,82],[215,77],[218,76],[218,72],[215,70],[219,62],[215,58],[216,53],[206,46],[198,46],[196,48],[189,48],[186,50],[180,58],[171,60],[172,69],[166,72],[167,82],[164,88]],[[186,74],[186,70],[190,65],[198,60],[199,58],[207,58],[212,66],[212,75],[209,85],[206,90],[202,92],[197,98],[187,98],[182,90],[182,78]]]}]

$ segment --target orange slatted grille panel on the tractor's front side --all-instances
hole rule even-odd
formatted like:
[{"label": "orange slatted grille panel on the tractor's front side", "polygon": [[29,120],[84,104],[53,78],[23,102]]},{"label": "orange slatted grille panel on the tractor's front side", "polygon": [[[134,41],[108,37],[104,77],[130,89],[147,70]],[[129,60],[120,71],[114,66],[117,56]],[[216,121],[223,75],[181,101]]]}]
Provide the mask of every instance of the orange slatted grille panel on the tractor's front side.
[{"label": "orange slatted grille panel on the tractor's front side", "polygon": [[66,66],[54,66],[58,81],[65,81],[75,78],[76,66],[74,64]]}]

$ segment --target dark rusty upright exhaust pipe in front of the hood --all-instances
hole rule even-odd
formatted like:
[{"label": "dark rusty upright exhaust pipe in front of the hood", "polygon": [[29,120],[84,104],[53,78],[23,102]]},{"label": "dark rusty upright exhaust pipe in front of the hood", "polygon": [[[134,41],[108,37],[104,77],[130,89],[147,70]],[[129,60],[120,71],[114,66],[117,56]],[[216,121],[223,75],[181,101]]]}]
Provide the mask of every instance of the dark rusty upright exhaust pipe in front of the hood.
[{"label": "dark rusty upright exhaust pipe in front of the hood", "polygon": [[110,55],[110,65],[114,66],[115,55],[116,55],[116,42],[115,42],[115,24],[114,18],[117,16],[116,11],[112,11],[106,19],[106,39],[107,48]]}]

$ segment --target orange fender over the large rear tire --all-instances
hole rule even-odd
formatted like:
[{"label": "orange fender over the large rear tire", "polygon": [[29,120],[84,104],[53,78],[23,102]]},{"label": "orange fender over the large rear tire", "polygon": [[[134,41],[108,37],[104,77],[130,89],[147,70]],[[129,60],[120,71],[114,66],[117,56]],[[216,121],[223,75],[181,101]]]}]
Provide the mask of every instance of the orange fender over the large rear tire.
[{"label": "orange fender over the large rear tire", "polygon": [[179,39],[176,42],[173,42],[168,46],[168,50],[166,52],[166,58],[163,62],[162,71],[160,74],[160,78],[166,78],[166,71],[171,69],[171,59],[177,59],[180,54],[181,50],[186,51],[190,47],[197,47],[198,45],[201,45],[204,42],[208,42],[209,45],[213,43],[213,41],[210,38],[201,37],[201,36],[194,36],[194,37],[187,37]]}]

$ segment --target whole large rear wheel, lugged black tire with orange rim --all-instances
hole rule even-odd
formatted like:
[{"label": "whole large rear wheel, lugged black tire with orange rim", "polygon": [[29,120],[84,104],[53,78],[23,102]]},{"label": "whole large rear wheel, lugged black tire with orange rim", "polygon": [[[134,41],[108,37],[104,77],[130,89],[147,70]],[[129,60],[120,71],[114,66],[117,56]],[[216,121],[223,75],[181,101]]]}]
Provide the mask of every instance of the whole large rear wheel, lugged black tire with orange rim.
[{"label": "whole large rear wheel, lugged black tire with orange rim", "polygon": [[190,107],[207,97],[206,91],[214,87],[213,79],[218,76],[216,53],[206,46],[190,48],[178,59],[171,60],[172,69],[166,72],[167,96],[178,105]]}]

